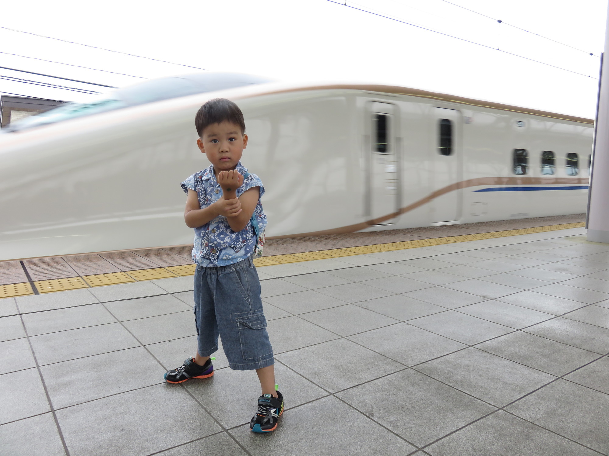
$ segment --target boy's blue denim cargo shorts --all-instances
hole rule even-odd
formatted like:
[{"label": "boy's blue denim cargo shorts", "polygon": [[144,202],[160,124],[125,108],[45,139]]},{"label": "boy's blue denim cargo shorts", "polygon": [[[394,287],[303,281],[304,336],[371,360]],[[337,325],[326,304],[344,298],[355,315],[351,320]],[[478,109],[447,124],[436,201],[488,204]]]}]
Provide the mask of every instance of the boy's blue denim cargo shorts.
[{"label": "boy's blue denim cargo shorts", "polygon": [[231,369],[259,369],[275,363],[251,257],[228,266],[197,265],[194,302],[200,356],[217,351],[220,336]]}]

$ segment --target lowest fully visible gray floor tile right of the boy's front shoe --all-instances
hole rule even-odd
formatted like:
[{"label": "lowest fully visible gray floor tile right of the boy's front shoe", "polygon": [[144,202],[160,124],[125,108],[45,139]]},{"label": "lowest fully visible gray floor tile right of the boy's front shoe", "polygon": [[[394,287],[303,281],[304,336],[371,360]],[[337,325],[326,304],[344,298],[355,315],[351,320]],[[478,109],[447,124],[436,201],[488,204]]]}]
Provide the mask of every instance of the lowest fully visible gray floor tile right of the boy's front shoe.
[{"label": "lowest fully visible gray floor tile right of the boy's front shoe", "polygon": [[429,444],[496,410],[412,369],[337,396],[417,446]]}]

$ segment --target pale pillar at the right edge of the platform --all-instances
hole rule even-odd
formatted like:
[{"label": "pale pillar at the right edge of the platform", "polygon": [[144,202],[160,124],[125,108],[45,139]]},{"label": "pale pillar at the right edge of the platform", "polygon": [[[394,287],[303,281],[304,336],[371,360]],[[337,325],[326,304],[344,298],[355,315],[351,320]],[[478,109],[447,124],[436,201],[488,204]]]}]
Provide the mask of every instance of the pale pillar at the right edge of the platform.
[{"label": "pale pillar at the right edge of the platform", "polygon": [[586,226],[588,241],[609,243],[609,10],[600,74]]}]

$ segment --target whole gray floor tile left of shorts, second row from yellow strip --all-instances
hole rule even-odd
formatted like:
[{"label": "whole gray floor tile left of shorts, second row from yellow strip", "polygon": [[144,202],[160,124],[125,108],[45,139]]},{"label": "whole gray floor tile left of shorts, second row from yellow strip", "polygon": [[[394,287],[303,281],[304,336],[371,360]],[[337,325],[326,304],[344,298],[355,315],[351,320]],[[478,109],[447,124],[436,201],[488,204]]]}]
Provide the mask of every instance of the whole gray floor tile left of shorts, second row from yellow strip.
[{"label": "whole gray floor tile left of shorts, second row from yellow strip", "polygon": [[120,321],[192,311],[191,306],[171,294],[113,301],[105,306]]}]

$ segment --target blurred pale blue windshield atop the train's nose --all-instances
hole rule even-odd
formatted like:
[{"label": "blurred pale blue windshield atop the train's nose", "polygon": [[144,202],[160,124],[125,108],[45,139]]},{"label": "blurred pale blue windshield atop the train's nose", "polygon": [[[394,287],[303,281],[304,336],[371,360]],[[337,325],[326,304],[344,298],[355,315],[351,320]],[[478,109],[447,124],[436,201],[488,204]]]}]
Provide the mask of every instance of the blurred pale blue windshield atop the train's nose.
[{"label": "blurred pale blue windshield atop the train's nose", "polygon": [[41,112],[11,123],[2,131],[21,131],[35,126],[62,122],[76,117],[90,116],[100,112],[144,105],[169,98],[231,89],[253,84],[263,84],[272,80],[247,74],[202,73],[152,79],[142,83],[117,89],[113,92],[86,103],[65,103],[57,108]]}]

